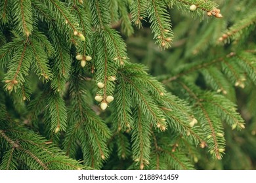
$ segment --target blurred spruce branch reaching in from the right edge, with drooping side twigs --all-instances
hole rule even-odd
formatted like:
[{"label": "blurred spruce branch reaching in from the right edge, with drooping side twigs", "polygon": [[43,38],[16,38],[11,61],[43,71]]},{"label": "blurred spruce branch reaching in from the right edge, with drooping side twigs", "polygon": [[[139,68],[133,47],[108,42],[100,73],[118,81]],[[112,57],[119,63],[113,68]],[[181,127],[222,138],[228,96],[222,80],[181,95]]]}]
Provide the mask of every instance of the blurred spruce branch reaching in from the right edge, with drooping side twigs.
[{"label": "blurred spruce branch reaching in from the right edge, with drooping side twigs", "polygon": [[[247,52],[230,52],[221,58],[202,63],[199,61],[198,63],[192,63],[190,66],[186,65],[186,67],[181,67],[181,69],[178,69],[179,73],[177,75],[165,79],[162,82],[166,84],[178,80],[182,76],[200,71],[203,76],[205,76],[205,82],[209,83],[213,90],[217,91],[217,93],[223,92],[223,94],[226,95],[228,91],[232,90],[232,86],[228,84],[226,77],[232,81],[234,86],[239,86],[240,88],[245,87],[244,82],[246,78],[241,71],[241,67],[249,78],[255,82],[255,66],[253,65],[254,57],[253,54]],[[221,66],[223,73],[217,68],[219,65]]]}]

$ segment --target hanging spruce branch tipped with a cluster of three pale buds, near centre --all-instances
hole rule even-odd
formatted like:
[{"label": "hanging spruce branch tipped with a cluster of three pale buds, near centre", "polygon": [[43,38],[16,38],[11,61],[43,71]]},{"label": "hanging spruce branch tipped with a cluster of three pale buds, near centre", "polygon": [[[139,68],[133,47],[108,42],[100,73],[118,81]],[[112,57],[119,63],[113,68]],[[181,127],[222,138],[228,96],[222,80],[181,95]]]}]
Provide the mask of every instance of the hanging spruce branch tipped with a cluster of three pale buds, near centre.
[{"label": "hanging spruce branch tipped with a cluster of three pale buds, near centre", "polygon": [[108,98],[111,97],[113,99],[112,95],[115,86],[111,78],[116,77],[118,66],[123,67],[127,54],[123,39],[113,29],[105,28],[100,33],[95,33],[95,39],[102,40],[102,42],[96,43],[94,51],[97,53],[94,62],[97,70],[96,81],[100,89],[96,96],[102,97],[102,100],[100,99],[100,102],[102,102],[100,107],[105,110],[106,105],[112,101],[109,101]]}]

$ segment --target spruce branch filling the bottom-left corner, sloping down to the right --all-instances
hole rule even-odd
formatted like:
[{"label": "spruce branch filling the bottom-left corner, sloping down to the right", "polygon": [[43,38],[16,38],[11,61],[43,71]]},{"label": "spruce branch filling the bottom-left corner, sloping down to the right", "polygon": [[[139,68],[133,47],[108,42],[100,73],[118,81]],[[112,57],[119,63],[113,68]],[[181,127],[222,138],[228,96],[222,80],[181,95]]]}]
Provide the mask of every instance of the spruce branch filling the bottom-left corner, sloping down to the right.
[{"label": "spruce branch filling the bottom-left corner, sloping down to the right", "polygon": [[[12,123],[12,122],[11,122]],[[56,169],[61,168],[65,156],[58,148],[45,145],[47,141],[39,135],[28,131],[24,127],[14,126],[9,122],[1,121],[0,141],[7,142],[5,160],[1,163],[1,169]],[[50,155],[50,156],[48,156]],[[61,158],[61,161],[53,164],[54,160]],[[22,164],[18,165],[18,159]],[[73,159],[68,159],[70,165],[63,169],[82,169],[83,167]],[[7,163],[7,164],[6,164]]]}]

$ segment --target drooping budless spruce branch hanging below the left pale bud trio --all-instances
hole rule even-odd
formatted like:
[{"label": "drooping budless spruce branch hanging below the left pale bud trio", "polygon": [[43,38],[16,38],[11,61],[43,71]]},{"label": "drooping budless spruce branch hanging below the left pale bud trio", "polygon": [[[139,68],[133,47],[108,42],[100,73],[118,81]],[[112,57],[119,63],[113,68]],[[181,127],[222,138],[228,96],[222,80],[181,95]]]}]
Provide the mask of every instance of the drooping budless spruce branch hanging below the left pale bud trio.
[{"label": "drooping budless spruce branch hanging below the left pale bud trio", "polygon": [[[87,106],[84,80],[79,73],[70,78],[71,106],[68,110],[68,131],[64,141],[66,154],[75,156],[74,150],[81,146],[84,163],[100,168],[108,158],[106,141],[110,131],[106,124]],[[78,143],[77,143],[78,142]]]}]

